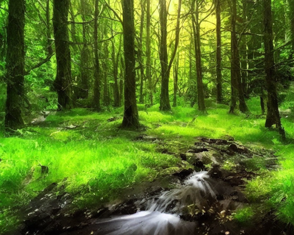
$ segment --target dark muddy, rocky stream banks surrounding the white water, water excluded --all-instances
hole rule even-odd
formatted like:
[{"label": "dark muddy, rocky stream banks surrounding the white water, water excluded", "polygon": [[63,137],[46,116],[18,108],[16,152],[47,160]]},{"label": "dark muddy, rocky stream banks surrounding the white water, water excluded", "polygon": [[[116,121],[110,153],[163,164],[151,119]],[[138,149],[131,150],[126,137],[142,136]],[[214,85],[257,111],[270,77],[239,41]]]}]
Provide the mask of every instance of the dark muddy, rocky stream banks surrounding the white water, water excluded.
[{"label": "dark muddy, rocky stream banks surrounding the white water, water excluded", "polygon": [[[157,139],[140,135],[136,141],[154,142]],[[23,210],[23,223],[14,234],[101,234],[99,221],[145,210],[144,202],[157,198],[159,194],[169,190],[170,184],[181,184],[194,170],[208,171],[211,184],[218,192],[216,199],[203,197],[202,208],[193,209],[193,213],[191,210],[180,213],[181,219],[197,223],[194,234],[293,234],[293,231],[284,229],[287,228],[285,225],[277,224],[271,214],[258,224],[240,225],[233,220],[232,213],[249,204],[243,194],[246,180],[256,176],[255,172],[247,169],[246,164],[253,157],[264,158],[264,152],[255,152],[234,142],[232,138],[225,140],[203,137],[196,138],[195,144],[180,154],[171,153],[168,150],[165,152],[181,157],[181,166],[170,170],[165,169],[165,174],[160,174],[161,176],[153,182],[142,182],[122,190],[120,199],[100,205],[98,208],[73,208],[74,195],[66,193],[60,187],[57,189],[56,184],[51,184]],[[269,154],[270,159],[275,159],[273,153]],[[231,169],[225,170],[223,166],[233,159],[235,164]],[[270,168],[276,165],[276,162],[273,160],[267,165]]]}]

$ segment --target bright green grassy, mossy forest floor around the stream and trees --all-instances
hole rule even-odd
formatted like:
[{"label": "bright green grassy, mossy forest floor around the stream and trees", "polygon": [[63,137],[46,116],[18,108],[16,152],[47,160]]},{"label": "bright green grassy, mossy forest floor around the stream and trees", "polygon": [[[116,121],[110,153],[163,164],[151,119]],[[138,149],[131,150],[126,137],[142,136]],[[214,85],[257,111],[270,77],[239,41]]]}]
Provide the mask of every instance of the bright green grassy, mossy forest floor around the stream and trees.
[{"label": "bright green grassy, mossy forest floor around the stream and trees", "polygon": [[[20,212],[50,185],[56,197],[71,195],[72,214],[122,200],[122,194],[138,184],[149,187],[148,182],[187,168],[180,154],[200,136],[233,138],[253,152],[265,153],[253,154],[244,165],[254,177],[245,180],[248,206],[232,215],[235,221],[258,223],[272,214],[271,219],[294,224],[294,118],[282,118],[288,137],[283,143],[275,130],[264,128],[258,100],[248,105],[250,115],[228,114],[228,106],[209,101],[207,115],[194,108],[163,113],[158,105],[138,105],[143,124],[139,131],[119,128],[122,108],[104,113],[80,108],[35,117],[31,125],[0,138],[0,234],[13,234],[22,224]],[[273,152],[277,160],[269,164]],[[236,172],[238,164],[240,159],[228,158],[221,168]],[[160,184],[169,187],[168,182]]]}]

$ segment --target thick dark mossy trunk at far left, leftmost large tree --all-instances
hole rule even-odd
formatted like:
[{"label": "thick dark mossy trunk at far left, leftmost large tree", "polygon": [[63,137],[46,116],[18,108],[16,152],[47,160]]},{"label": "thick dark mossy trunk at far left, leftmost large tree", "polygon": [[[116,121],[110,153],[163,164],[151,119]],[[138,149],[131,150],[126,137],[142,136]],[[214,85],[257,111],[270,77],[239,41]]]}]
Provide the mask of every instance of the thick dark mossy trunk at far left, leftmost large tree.
[{"label": "thick dark mossy trunk at far left, leftmost large tree", "polygon": [[6,54],[6,115],[5,127],[23,127],[24,100],[24,0],[9,0]]}]

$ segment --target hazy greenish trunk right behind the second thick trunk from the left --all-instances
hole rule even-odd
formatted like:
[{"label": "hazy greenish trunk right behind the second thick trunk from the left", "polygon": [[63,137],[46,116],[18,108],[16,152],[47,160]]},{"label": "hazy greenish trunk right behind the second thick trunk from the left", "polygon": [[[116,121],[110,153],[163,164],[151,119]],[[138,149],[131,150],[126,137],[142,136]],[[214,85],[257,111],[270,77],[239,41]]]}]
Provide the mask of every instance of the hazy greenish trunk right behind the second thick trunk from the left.
[{"label": "hazy greenish trunk right behind the second thick trunk from the left", "polygon": [[[86,22],[86,14],[89,14],[89,6],[86,0],[81,0],[81,11],[82,11],[82,21]],[[81,50],[81,84],[79,84],[80,87],[80,94],[78,95],[80,98],[88,98],[88,92],[89,92],[89,59],[90,59],[90,52],[88,48],[88,40],[87,40],[87,32],[89,31],[89,25],[83,24],[83,47]]]}]

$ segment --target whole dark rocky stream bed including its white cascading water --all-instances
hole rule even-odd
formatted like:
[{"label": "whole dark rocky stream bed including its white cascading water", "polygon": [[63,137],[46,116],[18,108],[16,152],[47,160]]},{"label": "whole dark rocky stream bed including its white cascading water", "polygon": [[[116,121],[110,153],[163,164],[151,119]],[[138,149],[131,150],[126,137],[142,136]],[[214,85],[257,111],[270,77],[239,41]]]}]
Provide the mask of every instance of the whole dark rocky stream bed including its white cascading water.
[{"label": "whole dark rocky stream bed including its white cascading water", "polygon": [[24,209],[24,222],[16,234],[285,234],[270,215],[257,225],[233,221],[232,213],[249,203],[242,189],[245,180],[255,176],[248,170],[250,159],[265,158],[268,168],[276,165],[275,156],[266,154],[265,158],[262,151],[233,139],[199,137],[189,149],[175,154],[181,165],[164,169],[154,182],[123,190],[120,201],[97,208],[73,209],[73,195],[52,184]]}]

